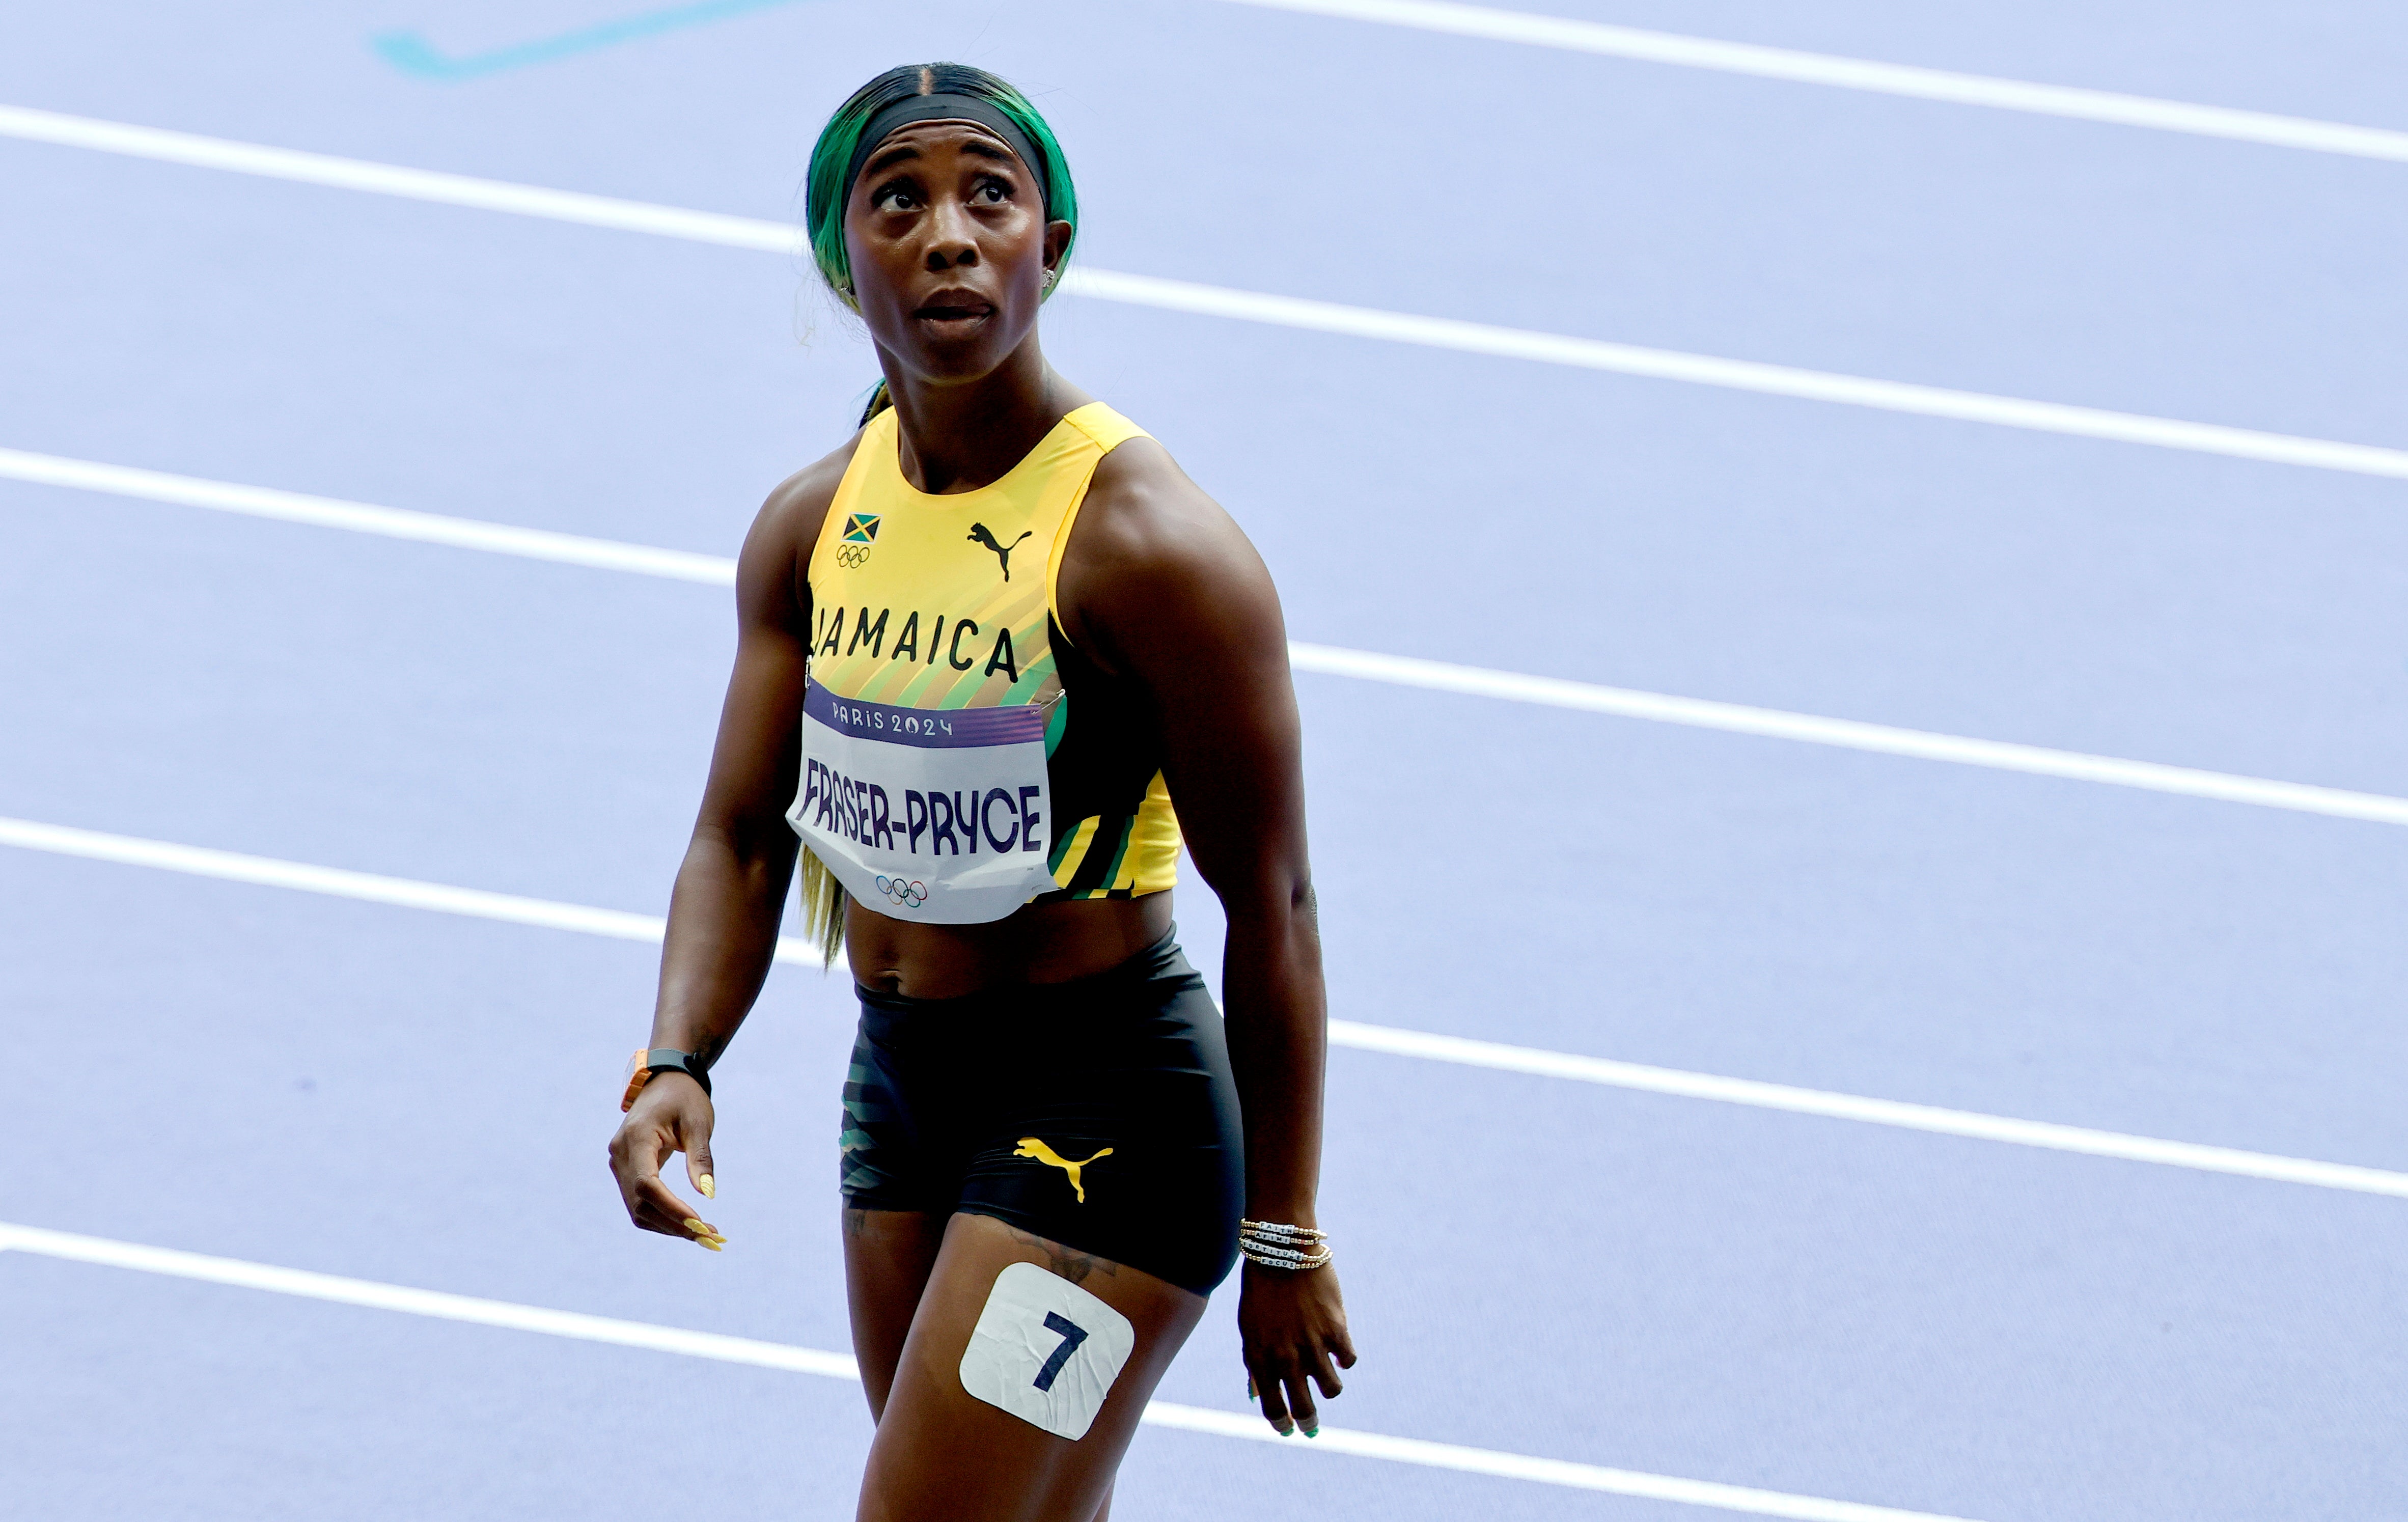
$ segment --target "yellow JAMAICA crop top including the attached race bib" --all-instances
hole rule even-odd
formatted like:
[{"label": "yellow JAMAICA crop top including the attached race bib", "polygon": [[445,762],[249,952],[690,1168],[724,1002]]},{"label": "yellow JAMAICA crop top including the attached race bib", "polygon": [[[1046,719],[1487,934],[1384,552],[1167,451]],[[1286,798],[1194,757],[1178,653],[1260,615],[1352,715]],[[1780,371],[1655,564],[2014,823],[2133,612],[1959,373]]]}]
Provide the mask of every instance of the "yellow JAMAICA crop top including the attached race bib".
[{"label": "yellow JAMAICA crop top including the attached race bib", "polygon": [[903,479],[896,429],[893,409],[862,429],[811,547],[790,821],[857,903],[898,920],[1173,886],[1161,739],[1137,694],[1062,638],[1055,590],[1096,462],[1144,431],[1091,402],[1002,479],[929,496]]}]

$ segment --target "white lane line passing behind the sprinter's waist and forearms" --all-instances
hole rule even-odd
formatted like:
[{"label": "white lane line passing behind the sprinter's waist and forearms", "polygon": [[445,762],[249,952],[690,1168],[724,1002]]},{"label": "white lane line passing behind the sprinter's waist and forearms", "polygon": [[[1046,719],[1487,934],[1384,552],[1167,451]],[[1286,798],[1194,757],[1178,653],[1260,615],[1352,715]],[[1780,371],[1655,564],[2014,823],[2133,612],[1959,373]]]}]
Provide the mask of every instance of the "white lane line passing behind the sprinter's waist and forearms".
[{"label": "white lane line passing behind the sprinter's waist and forearms", "polygon": [[[140,836],[108,836],[101,831],[36,824],[31,819],[0,819],[0,845],[46,850],[53,855],[99,862],[120,862],[128,867],[185,872],[193,877],[214,877],[222,881],[241,881],[267,889],[364,898],[371,903],[393,903],[400,908],[421,908],[443,915],[467,915],[474,920],[539,925],[544,930],[576,930],[583,934],[602,934],[626,942],[660,944],[667,925],[657,915],[628,915],[580,903],[520,898],[515,893],[486,893],[479,889],[455,889],[407,877],[376,877],[368,872],[344,872],[340,867],[311,867],[275,857],[236,855],[231,850],[202,850],[166,840],[144,840]],[[778,961],[811,968],[821,966],[819,954],[795,937],[778,939]],[[1541,1048],[1519,1048],[1495,1040],[1466,1040],[1462,1036],[1438,1036],[1433,1031],[1365,1026],[1361,1021],[1329,1021],[1329,1043],[1363,1052],[1385,1052],[1392,1057],[1421,1057],[1428,1062],[1454,1062],[1459,1067],[1488,1067],[1544,1079],[1604,1084],[1609,1089],[1707,1098],[1755,1110],[1789,1110],[1792,1115],[1857,1120],[1864,1125],[1936,1132],[1975,1142],[2008,1142],[2015,1146],[2076,1151],[2095,1158],[2119,1158],[2126,1163],[2158,1163],[2165,1168],[2230,1173],[2237,1178],[2264,1178],[2288,1185],[2314,1185],[2319,1190],[2350,1190],[2357,1194],[2389,1194],[2394,1199],[2408,1199],[2408,1173],[2360,1168],[2353,1163],[2319,1163],[2264,1151],[2239,1151],[2232,1146],[2201,1146],[2194,1142],[2097,1132],[2078,1125],[1982,1115],[1977,1110],[1943,1110],[1936,1105],[1864,1098],[1857,1093],[1794,1089],[1789,1084],[1760,1084],[1755,1079],[1724,1079],[1717,1074],[1681,1072],[1674,1067],[1645,1067],[1640,1062],[1548,1052]]]}]

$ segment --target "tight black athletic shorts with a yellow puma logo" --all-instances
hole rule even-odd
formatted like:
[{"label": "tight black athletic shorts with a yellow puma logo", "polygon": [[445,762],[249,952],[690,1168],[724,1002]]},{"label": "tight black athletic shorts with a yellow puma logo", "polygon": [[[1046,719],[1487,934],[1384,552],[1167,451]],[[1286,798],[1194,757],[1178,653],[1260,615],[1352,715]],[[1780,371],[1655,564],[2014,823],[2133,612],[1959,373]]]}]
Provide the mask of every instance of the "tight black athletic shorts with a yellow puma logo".
[{"label": "tight black athletic shorts with a yellow puma logo", "polygon": [[1199,1296],[1228,1276],[1238,1089],[1221,1011],[1173,937],[1074,983],[855,992],[845,1204],[995,1216]]}]

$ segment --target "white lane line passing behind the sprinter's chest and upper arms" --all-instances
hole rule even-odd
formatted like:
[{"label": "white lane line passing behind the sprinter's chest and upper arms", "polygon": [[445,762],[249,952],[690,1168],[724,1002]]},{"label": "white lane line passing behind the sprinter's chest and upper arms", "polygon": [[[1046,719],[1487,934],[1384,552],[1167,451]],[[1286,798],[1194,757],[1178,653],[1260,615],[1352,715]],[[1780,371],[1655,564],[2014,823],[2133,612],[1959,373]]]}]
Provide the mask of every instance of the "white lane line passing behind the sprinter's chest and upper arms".
[{"label": "white lane line passing behind the sprinter's chest and upper arms", "polygon": [[[568,561],[604,571],[669,576],[677,580],[698,580],[710,585],[734,585],[737,571],[732,559],[713,554],[655,549],[650,544],[624,544],[616,539],[588,539],[583,535],[551,535],[542,530],[484,523],[479,518],[445,518],[438,513],[376,508],[330,496],[303,496],[299,491],[275,491],[267,486],[236,486],[231,482],[207,482],[200,477],[128,470],[120,465],[70,460],[65,455],[34,455],[7,448],[0,448],[0,479],[77,486],[84,491],[137,496],[144,501],[393,535],[494,554],[520,554],[542,561]],[[1729,735],[1830,744],[1854,751],[1876,751],[1883,756],[1946,761],[1953,766],[1987,766],[1991,771],[2020,771],[2076,783],[2141,787],[2148,792],[2206,797],[2215,802],[2254,804],[2261,809],[2292,809],[2300,814],[2329,814],[2336,819],[2369,819],[2374,824],[2408,824],[2408,797],[2386,797],[2382,792],[2350,792],[2345,787],[2316,787],[2314,783],[2276,783],[2268,778],[2244,778],[2223,771],[2199,771],[2194,766],[2124,761],[2117,756],[2056,751],[2003,739],[1970,739],[1965,735],[1934,735],[1929,730],[1900,730],[1895,725],[1818,718],[1813,713],[1787,713],[1780,708],[1751,708],[1746,703],[1717,703],[1712,698],[1676,698],[1633,686],[1568,682],[1563,677],[1531,677],[1524,672],[1498,672],[1491,667],[1466,667],[1445,660],[1421,660],[1413,655],[1380,655],[1375,650],[1312,645],[1305,641],[1288,641],[1288,660],[1296,662],[1296,669],[1322,677],[1353,677],[1358,682],[1454,691],[1476,698],[1500,698],[1507,703],[1544,703],[1551,708],[1611,713],[1616,718],[1635,718],[1659,725],[1688,725],[1695,730],[1724,730]]]}]

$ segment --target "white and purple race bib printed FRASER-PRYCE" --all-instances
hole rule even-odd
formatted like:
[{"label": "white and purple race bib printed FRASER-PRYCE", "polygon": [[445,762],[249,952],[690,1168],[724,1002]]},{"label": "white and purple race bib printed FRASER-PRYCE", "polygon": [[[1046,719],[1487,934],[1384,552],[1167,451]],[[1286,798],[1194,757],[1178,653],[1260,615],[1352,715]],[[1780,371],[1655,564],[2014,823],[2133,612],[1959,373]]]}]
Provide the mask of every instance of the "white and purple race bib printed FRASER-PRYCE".
[{"label": "white and purple race bib printed FRASER-PRYCE", "polygon": [[891,708],[804,686],[785,819],[881,915],[985,925],[1050,891],[1050,812],[1040,706]]}]

